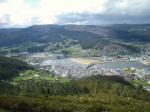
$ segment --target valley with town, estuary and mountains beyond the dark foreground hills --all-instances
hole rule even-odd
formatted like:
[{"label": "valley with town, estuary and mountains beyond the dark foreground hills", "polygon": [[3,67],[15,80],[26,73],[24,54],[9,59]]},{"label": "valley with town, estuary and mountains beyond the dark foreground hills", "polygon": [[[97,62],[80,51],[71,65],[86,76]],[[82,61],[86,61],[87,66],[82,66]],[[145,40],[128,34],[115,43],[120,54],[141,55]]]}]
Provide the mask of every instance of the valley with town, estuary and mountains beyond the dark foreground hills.
[{"label": "valley with town, estuary and mountains beyond the dark foreground hills", "polygon": [[[3,44],[0,47],[0,54],[50,72],[47,73],[50,75],[45,76],[50,78],[38,76],[40,79],[54,81],[65,77],[69,81],[69,78],[78,79],[94,74],[121,74],[121,77],[131,80],[130,82],[143,80],[149,85],[150,44],[147,40],[149,31],[149,24],[34,25],[20,29],[1,29],[0,38]],[[140,40],[141,36],[144,40]],[[16,39],[19,41],[12,43]],[[135,61],[135,64],[132,64],[132,61]],[[114,63],[125,66],[115,67]],[[91,66],[90,64],[94,66],[92,65],[89,70],[86,69],[86,66]],[[135,71],[130,71],[131,68]],[[27,78],[14,80],[31,79],[37,74],[38,72],[35,72],[32,75],[28,74]]]}]

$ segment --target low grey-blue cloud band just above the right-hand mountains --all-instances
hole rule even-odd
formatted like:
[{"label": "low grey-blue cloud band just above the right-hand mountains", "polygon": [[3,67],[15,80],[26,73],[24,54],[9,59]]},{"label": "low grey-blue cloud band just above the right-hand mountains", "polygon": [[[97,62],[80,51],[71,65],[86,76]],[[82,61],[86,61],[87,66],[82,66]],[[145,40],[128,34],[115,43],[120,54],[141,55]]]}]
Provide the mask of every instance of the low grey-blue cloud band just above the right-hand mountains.
[{"label": "low grey-blue cloud band just above the right-hand mountains", "polygon": [[[59,15],[56,23],[58,24],[139,24],[149,23],[150,16],[133,16],[120,14],[88,14],[88,13],[70,13]],[[135,21],[136,20],[136,21]],[[144,21],[143,21],[144,20]]]}]

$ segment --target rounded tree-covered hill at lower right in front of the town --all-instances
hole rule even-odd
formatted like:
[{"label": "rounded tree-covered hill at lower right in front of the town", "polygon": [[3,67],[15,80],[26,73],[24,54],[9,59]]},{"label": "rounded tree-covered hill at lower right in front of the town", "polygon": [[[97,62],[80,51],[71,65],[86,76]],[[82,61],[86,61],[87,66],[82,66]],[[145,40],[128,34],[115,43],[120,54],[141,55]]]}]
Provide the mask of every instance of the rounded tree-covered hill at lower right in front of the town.
[{"label": "rounded tree-covered hill at lower right in front of the town", "polygon": [[77,81],[81,88],[90,93],[109,93],[118,96],[150,100],[150,93],[142,88],[135,87],[119,76],[95,75]]}]

